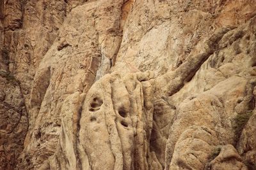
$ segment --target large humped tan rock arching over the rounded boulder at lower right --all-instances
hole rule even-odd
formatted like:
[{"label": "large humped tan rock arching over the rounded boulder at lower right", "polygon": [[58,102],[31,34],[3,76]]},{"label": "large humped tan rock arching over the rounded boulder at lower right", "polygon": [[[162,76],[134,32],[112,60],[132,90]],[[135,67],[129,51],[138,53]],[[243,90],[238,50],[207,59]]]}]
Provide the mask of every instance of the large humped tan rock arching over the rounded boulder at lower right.
[{"label": "large humped tan rock arching over the rounded boulder at lower right", "polygon": [[173,149],[176,147],[177,139],[191,125],[204,125],[216,131],[220,144],[234,143],[231,120],[237,114],[237,100],[244,97],[245,90],[246,81],[243,78],[232,77],[207,92],[183,101],[170,127],[166,146],[166,167],[170,164],[168,162],[173,161]]}]

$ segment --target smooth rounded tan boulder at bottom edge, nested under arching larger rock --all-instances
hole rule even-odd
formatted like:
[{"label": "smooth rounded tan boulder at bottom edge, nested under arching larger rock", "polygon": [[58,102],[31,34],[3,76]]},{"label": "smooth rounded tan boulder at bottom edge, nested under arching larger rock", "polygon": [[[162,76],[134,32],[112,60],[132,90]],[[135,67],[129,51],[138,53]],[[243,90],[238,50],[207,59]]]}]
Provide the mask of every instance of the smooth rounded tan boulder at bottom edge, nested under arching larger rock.
[{"label": "smooth rounded tan boulder at bottom edge, nested under arching larger rock", "polygon": [[205,169],[214,146],[219,141],[207,127],[190,126],[184,131],[173,153],[170,169]]}]

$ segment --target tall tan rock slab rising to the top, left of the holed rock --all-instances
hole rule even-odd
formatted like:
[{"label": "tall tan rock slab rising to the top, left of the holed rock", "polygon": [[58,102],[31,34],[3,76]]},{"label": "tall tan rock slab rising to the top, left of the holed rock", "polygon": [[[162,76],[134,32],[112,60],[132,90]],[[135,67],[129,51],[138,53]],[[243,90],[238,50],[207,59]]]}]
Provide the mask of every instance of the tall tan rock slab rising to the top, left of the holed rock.
[{"label": "tall tan rock slab rising to the top, left of the holed rock", "polygon": [[[37,155],[29,162],[35,168],[49,164],[45,161],[55,153],[62,131],[60,113],[66,97],[76,92],[86,94],[97,74],[108,73],[105,66],[109,65],[100,64],[100,59],[104,60],[103,55],[111,58],[115,54],[115,49],[109,50],[113,44],[108,44],[107,40],[118,43],[120,38],[118,20],[122,2],[98,3],[77,6],[70,11],[63,23],[65,26],[61,27],[58,38],[36,71],[29,102],[30,126],[24,143],[24,158]],[[113,8],[113,5],[119,7]],[[78,129],[79,117],[72,124]],[[20,164],[20,167],[26,166],[26,162]]]}]

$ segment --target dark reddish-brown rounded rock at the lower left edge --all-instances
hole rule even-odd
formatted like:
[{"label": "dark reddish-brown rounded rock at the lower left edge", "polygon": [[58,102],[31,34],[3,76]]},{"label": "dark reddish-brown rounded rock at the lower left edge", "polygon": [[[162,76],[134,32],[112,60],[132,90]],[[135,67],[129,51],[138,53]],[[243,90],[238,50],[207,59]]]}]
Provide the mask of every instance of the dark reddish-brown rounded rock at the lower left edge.
[{"label": "dark reddish-brown rounded rock at the lower left edge", "polygon": [[0,71],[0,169],[13,169],[28,131],[28,113],[19,81]]}]

